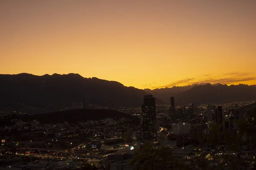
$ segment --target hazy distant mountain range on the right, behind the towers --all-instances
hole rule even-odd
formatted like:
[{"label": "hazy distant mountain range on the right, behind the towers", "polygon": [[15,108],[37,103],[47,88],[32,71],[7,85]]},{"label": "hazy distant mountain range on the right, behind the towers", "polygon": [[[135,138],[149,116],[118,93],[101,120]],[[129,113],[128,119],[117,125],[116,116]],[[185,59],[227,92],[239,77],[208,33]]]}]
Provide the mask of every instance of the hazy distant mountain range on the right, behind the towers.
[{"label": "hazy distant mountain range on the right, behind the towers", "polygon": [[256,100],[256,85],[195,84],[183,87],[144,89],[147,93],[170,104],[170,96],[175,97],[176,105],[189,103],[207,104]]}]

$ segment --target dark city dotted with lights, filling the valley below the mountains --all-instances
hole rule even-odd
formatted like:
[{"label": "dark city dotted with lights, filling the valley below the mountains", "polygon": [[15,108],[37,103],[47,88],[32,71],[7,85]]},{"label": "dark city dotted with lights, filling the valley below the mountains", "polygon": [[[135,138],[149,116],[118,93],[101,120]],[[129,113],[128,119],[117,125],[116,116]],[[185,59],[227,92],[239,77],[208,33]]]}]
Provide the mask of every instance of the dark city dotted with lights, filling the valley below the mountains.
[{"label": "dark city dotted with lights, filling the valley below the mountains", "polygon": [[[59,114],[50,113],[51,123],[46,123],[49,113],[35,117],[2,109],[2,168],[142,169],[145,165],[137,162],[137,153],[149,146],[155,154],[167,149],[166,157],[171,157],[168,164],[156,163],[148,169],[229,169],[234,162],[237,168],[254,168],[254,101],[176,106],[175,98],[170,97],[169,104],[156,105],[154,96],[145,94],[140,108],[90,108],[85,101],[76,107],[59,112],[67,118],[64,122],[58,121]],[[69,122],[76,114],[106,112],[118,112],[119,117],[100,115],[97,119]],[[244,121],[249,129],[245,129]],[[147,156],[144,159],[152,159]],[[171,167],[172,161],[182,164]]]}]

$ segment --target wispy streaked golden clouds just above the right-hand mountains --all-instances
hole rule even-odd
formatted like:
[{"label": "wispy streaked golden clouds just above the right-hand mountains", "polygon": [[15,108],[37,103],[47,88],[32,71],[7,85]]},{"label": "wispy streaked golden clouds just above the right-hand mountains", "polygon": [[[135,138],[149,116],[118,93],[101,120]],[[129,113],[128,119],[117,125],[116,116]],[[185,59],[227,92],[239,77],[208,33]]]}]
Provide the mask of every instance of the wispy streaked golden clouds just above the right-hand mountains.
[{"label": "wispy streaked golden clouds just above the right-hand mountains", "polygon": [[232,84],[232,83],[239,83],[245,82],[250,80],[256,80],[256,77],[252,76],[253,73],[250,72],[230,72],[224,73],[218,76],[213,76],[212,74],[203,74],[197,77],[189,77],[184,78],[175,82],[170,82],[167,85],[156,86],[156,82],[151,84],[145,84],[144,87],[146,88],[171,88],[173,86],[183,86],[183,85],[192,85],[192,84]]}]

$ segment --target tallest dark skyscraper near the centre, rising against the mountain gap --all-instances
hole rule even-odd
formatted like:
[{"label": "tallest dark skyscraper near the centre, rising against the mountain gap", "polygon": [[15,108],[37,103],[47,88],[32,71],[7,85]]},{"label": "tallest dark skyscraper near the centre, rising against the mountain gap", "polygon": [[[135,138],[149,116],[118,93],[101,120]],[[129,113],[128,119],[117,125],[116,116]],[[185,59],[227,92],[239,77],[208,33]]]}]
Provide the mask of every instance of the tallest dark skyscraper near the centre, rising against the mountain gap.
[{"label": "tallest dark skyscraper near the centre, rising against the mountain gap", "polygon": [[152,94],[144,95],[141,109],[143,138],[152,139],[157,134],[156,102]]}]

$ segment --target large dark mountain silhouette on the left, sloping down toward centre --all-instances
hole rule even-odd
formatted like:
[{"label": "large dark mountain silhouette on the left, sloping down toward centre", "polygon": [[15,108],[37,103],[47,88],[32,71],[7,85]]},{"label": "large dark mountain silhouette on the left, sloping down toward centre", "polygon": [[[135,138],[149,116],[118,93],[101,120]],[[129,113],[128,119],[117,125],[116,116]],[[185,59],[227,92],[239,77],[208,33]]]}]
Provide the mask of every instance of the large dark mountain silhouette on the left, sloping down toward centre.
[{"label": "large dark mountain silhouette on the left, sloping down toward centre", "polygon": [[[119,82],[84,78],[79,74],[0,74],[0,104],[24,103],[39,108],[47,105],[83,102],[110,107],[141,106],[145,91],[126,87]],[[157,100],[157,102],[162,102]]]}]

